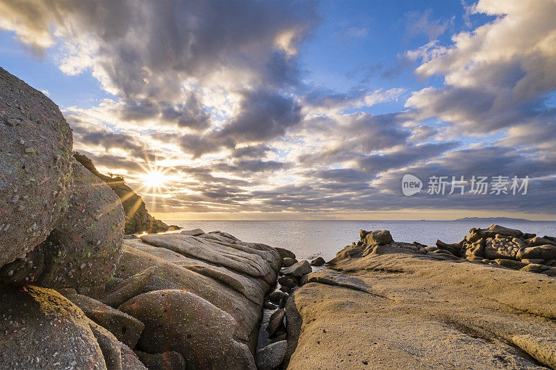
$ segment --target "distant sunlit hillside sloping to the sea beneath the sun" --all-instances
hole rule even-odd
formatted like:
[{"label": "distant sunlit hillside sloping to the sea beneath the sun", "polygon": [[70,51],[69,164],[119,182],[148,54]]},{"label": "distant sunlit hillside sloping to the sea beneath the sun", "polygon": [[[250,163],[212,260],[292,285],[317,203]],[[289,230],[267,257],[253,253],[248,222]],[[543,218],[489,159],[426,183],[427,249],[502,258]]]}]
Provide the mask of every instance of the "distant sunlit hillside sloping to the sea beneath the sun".
[{"label": "distant sunlit hillside sloping to the sea beneath the sun", "polygon": [[[163,233],[167,231],[170,226],[163,221],[152,217],[145,206],[145,202],[141,197],[127,186],[124,178],[120,176],[110,177],[100,174],[92,160],[87,156],[74,152],[74,157],[81,165],[92,172],[95,176],[103,180],[116,195],[120,198],[124,212],[126,215],[125,233]],[[174,229],[177,226],[174,226]]]}]

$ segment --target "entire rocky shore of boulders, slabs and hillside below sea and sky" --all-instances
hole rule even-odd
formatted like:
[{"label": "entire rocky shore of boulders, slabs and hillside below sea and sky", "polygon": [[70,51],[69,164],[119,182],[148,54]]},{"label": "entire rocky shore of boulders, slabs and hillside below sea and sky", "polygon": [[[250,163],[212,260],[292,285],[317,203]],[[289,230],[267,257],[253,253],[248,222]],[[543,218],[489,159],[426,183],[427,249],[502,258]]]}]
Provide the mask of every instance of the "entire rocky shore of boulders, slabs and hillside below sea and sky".
[{"label": "entire rocky shore of boulders, slabs and hillside below sea and sky", "polygon": [[360,230],[326,262],[177,230],[1,68],[0,144],[1,369],[556,368],[556,237]]}]

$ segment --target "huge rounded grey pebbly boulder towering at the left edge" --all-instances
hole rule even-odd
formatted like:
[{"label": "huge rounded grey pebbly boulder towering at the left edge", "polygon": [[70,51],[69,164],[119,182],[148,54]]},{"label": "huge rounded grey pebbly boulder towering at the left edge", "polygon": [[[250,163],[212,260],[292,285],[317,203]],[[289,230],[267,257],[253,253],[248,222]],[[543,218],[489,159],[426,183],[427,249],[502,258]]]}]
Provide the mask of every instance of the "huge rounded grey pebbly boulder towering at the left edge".
[{"label": "huge rounded grey pebbly boulder towering at the left edge", "polygon": [[64,214],[71,155],[58,106],[0,67],[0,266],[24,258]]}]

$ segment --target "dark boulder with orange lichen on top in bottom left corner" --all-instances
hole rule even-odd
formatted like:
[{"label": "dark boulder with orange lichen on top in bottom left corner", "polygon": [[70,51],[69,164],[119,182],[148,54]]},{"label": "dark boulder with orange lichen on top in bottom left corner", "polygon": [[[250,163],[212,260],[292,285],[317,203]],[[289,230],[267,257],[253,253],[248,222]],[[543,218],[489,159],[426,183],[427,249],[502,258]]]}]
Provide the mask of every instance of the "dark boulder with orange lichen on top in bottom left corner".
[{"label": "dark boulder with orange lichen on top in bottom left corner", "polygon": [[2,287],[2,369],[106,369],[90,320],[52,289]]}]

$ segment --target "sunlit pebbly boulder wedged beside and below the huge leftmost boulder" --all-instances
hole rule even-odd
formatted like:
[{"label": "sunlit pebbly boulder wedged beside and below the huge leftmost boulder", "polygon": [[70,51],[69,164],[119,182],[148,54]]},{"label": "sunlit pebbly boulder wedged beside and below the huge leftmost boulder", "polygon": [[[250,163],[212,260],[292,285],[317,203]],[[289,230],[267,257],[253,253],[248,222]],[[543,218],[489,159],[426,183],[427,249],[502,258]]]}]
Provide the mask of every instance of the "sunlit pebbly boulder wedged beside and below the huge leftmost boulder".
[{"label": "sunlit pebbly boulder wedged beside and below the huge leftmost boulder", "polygon": [[104,182],[79,162],[72,166],[70,208],[47,237],[44,287],[90,287],[108,281],[121,255],[124,211]]}]

